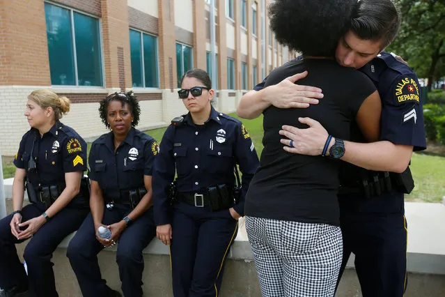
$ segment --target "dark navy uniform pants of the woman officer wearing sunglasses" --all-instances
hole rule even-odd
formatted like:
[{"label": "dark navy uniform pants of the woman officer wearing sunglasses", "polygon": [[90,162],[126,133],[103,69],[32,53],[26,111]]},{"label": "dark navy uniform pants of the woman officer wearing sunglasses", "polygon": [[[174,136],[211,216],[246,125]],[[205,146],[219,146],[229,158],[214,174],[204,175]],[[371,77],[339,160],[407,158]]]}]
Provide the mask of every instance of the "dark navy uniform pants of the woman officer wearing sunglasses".
[{"label": "dark navy uniform pants of the woman officer wearing sunglasses", "polygon": [[238,223],[228,209],[173,205],[171,266],[175,297],[218,296]]}]

